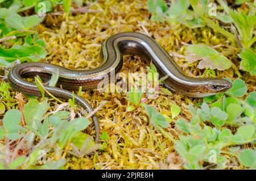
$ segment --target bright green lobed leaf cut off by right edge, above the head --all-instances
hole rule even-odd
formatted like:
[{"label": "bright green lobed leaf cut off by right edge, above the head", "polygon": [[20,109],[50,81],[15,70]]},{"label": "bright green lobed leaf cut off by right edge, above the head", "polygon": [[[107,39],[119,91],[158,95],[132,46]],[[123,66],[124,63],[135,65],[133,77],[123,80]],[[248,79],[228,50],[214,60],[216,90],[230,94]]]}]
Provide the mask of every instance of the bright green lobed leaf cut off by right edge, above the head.
[{"label": "bright green lobed leaf cut off by right edge, above the head", "polygon": [[256,53],[251,49],[245,48],[238,56],[242,59],[240,68],[250,72],[251,75],[256,75]]}]

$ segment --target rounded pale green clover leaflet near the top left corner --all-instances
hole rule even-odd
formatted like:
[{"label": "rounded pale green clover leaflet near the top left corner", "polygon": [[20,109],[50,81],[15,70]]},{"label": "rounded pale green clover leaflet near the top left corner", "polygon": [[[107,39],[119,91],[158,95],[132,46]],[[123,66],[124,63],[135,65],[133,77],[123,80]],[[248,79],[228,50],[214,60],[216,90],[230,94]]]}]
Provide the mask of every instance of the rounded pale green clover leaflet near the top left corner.
[{"label": "rounded pale green clover leaflet near the top left corner", "polygon": [[15,30],[25,30],[23,18],[19,14],[11,14],[5,19],[6,23]]}]

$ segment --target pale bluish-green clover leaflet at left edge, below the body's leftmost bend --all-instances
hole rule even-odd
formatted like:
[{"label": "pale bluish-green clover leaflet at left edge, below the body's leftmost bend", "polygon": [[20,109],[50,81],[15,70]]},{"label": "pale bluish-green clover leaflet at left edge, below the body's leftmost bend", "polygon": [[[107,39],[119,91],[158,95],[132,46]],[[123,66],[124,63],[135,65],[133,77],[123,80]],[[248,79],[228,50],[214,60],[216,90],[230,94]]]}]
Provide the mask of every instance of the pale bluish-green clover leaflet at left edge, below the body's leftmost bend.
[{"label": "pale bluish-green clover leaflet at left edge, below the body's leftmost bend", "polygon": [[19,110],[8,110],[3,117],[3,128],[5,128],[5,132],[7,137],[10,140],[16,140],[20,137],[19,132],[22,130],[19,123],[22,118]]}]

